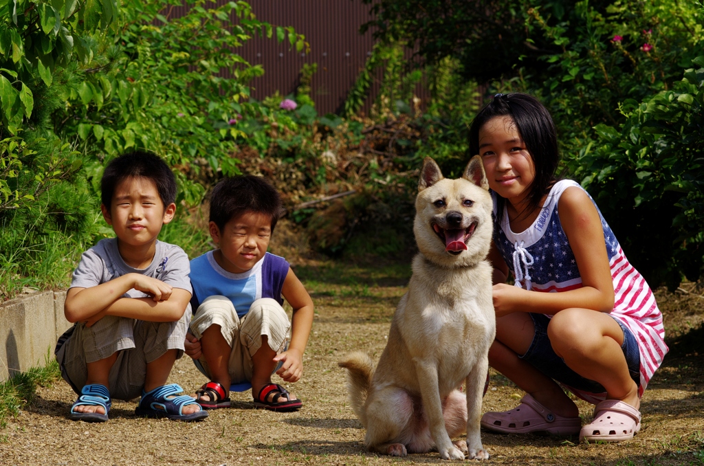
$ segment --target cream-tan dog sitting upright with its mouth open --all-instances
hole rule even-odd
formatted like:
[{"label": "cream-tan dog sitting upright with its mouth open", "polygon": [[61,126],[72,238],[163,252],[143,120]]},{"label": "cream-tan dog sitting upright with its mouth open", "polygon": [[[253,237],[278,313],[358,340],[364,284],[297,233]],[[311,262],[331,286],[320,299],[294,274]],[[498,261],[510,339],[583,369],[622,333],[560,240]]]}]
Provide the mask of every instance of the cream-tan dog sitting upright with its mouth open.
[{"label": "cream-tan dog sitting upright with its mouth open", "polygon": [[[368,355],[352,353],[339,365],[348,370],[352,409],[371,451],[405,456],[435,446],[445,460],[465,453],[485,460],[479,420],[496,317],[486,260],[492,203],[481,158],[458,180],[445,179],[425,158],[418,191],[420,252],[379,364],[374,370]],[[466,443],[452,443],[465,431]]]}]

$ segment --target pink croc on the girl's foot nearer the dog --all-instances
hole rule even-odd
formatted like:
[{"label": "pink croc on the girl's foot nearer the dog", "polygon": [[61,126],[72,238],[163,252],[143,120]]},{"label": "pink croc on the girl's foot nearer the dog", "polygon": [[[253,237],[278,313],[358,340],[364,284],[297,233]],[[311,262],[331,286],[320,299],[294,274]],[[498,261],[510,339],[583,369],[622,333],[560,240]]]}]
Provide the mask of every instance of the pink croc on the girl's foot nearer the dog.
[{"label": "pink croc on the girl's foot nearer the dog", "polygon": [[482,427],[502,434],[547,432],[553,435],[568,436],[579,433],[582,419],[551,413],[535,398],[526,394],[521,398],[521,404],[513,410],[504,413],[484,413]]}]

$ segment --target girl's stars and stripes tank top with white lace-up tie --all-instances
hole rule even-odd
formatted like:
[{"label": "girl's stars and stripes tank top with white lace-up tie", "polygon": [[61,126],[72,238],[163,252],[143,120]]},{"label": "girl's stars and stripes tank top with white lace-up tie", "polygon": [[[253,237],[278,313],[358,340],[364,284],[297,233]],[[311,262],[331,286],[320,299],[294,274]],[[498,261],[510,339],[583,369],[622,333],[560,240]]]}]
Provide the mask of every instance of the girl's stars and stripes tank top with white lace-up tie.
[{"label": "girl's stars and stripes tank top with white lace-up tie", "polygon": [[[494,244],[510,270],[513,270],[516,286],[543,293],[568,291],[582,286],[574,253],[562,231],[558,214],[560,195],[569,187],[584,190],[572,180],[555,183],[540,215],[524,232],[511,231],[505,209],[503,218],[494,223]],[[492,196],[496,194],[492,193]],[[594,202],[593,199],[591,201]],[[639,395],[642,396],[668,351],[664,340],[662,313],[655,303],[653,291],[638,270],[629,263],[596,203],[594,206],[601,219],[614,284],[615,301],[610,314],[631,330],[638,341],[641,356]],[[494,216],[496,217],[496,199]],[[598,402],[601,398],[595,398],[594,393],[576,394],[591,402]]]}]

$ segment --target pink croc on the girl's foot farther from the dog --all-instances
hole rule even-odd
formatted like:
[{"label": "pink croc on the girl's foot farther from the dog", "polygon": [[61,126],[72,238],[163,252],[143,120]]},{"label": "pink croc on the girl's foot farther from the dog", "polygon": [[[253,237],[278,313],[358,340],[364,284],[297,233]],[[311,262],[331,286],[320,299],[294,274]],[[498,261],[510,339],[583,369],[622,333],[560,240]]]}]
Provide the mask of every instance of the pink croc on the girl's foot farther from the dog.
[{"label": "pink croc on the girl's foot farther from the dog", "polygon": [[617,442],[633,439],[641,430],[641,413],[618,400],[602,401],[594,408],[594,419],[582,427],[579,441]]}]

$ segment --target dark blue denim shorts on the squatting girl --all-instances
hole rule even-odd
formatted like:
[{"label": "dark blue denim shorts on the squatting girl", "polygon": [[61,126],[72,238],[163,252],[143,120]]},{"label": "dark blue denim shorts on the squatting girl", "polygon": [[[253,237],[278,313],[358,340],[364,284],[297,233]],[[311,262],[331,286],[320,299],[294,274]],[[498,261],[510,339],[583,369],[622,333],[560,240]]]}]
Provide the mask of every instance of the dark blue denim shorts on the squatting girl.
[{"label": "dark blue denim shorts on the squatting girl", "polygon": [[[574,372],[570,367],[567,367],[567,364],[565,364],[562,358],[555,354],[550,339],[548,339],[548,324],[550,323],[550,318],[544,314],[535,313],[530,313],[530,316],[535,326],[535,334],[528,351],[520,356],[520,358],[530,363],[551,379],[555,379],[562,384],[577,390],[588,391],[589,393],[604,393],[606,389],[603,385],[591,379],[585,379],[577,374],[577,372]],[[640,387],[641,355],[638,349],[638,341],[636,341],[636,336],[634,336],[633,332],[625,327],[620,320],[614,320],[618,322],[618,325],[620,325],[623,330],[623,344],[621,345],[621,349],[626,357],[631,379]]]}]

